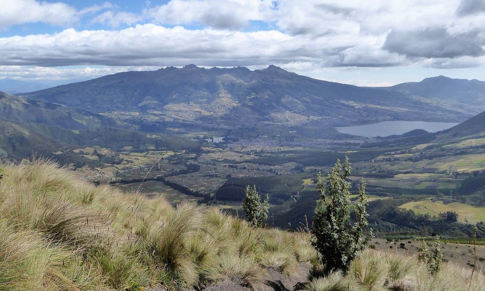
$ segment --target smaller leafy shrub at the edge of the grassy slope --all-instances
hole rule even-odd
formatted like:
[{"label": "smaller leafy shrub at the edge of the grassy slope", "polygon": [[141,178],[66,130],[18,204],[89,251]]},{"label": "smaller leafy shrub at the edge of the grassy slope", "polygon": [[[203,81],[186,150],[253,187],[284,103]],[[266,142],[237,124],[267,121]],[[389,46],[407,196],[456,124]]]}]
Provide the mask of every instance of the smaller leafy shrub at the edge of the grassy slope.
[{"label": "smaller leafy shrub at the edge of the grassy slope", "polygon": [[261,195],[254,188],[246,186],[246,198],[242,201],[242,209],[246,212],[246,218],[252,226],[262,226],[263,221],[268,218],[269,197],[261,202]]}]

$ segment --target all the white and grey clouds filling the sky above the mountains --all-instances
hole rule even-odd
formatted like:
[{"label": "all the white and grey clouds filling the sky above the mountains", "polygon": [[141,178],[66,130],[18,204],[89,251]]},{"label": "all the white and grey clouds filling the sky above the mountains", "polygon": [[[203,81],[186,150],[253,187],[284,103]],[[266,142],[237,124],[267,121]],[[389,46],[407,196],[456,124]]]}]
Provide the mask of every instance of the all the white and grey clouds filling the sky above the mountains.
[{"label": "all the white and grey clouds filling the sky above the mountains", "polygon": [[[485,54],[482,2],[170,0],[137,15],[110,3],[77,11],[61,2],[7,1],[0,27],[60,25],[88,14],[110,29],[155,24],[0,38],[0,65],[476,66]],[[252,20],[274,30],[245,32]]]}]

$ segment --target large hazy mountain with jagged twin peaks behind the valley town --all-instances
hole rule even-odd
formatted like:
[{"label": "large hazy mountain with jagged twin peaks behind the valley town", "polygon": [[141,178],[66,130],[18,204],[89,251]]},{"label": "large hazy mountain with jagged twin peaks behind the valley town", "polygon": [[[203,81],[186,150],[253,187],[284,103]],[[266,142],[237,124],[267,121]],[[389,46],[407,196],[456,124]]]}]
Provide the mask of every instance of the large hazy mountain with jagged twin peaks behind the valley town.
[{"label": "large hazy mountain with jagged twin peaks behind the valley town", "polygon": [[461,121],[470,116],[409,94],[311,79],[274,65],[254,71],[187,65],[123,72],[22,96],[174,127]]}]

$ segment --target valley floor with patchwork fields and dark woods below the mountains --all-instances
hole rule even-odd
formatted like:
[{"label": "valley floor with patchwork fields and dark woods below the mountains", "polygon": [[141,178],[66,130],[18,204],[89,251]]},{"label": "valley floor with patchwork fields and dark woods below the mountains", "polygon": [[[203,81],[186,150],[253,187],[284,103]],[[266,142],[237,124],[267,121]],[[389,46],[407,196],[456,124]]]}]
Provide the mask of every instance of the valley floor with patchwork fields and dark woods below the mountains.
[{"label": "valley floor with patchwork fields and dark woods below the mountains", "polygon": [[[401,138],[384,139],[389,147],[370,147],[373,142],[369,139],[353,144],[350,141],[356,141],[354,138],[348,144],[343,143],[345,147],[325,144],[318,149],[291,146],[291,143],[267,146],[255,138],[244,143],[205,141],[197,153],[157,150],[116,153],[98,148],[98,153],[119,155],[124,161],[117,165],[104,163],[95,172],[98,176],[92,175],[89,179],[104,179],[120,189],[139,190],[150,197],[164,195],[172,203],[187,199],[217,205],[235,215],[243,212],[245,186],[257,185],[261,193],[270,197],[268,223],[295,228],[306,223],[306,219],[311,223],[318,199],[314,180],[318,172],[328,172],[336,159],[349,156],[353,162],[353,184],[362,179],[367,183],[370,207],[375,208],[372,226],[380,236],[399,233],[420,237],[439,231],[449,238],[467,237],[475,224],[483,232],[485,200],[480,194],[484,189],[480,177],[485,170],[485,142],[436,140],[393,146]],[[273,143],[277,145],[278,139]],[[87,154],[89,149],[83,151]],[[92,154],[86,157],[99,160]],[[88,176],[89,172],[86,167],[75,171],[81,177]],[[413,220],[411,224],[408,221],[401,224],[394,220],[391,214],[394,212],[382,213],[389,207],[393,211],[402,210],[400,214],[406,217],[411,214],[405,210],[411,210],[416,216],[408,217]],[[439,214],[448,211],[458,214],[454,228],[441,224]]]}]

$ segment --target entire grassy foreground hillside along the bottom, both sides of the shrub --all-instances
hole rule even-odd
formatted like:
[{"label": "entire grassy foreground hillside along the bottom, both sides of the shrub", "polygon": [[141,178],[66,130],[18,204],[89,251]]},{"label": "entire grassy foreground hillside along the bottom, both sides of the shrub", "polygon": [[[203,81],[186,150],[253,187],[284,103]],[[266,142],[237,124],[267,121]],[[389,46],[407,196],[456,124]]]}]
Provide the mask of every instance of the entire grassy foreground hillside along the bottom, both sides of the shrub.
[{"label": "entire grassy foreground hillside along the bottom, both sides of the shrub", "polygon": [[173,207],[163,196],[97,187],[49,162],[8,165],[3,177],[0,290],[483,291],[485,286],[482,272],[470,276],[470,269],[445,262],[430,275],[416,257],[394,251],[366,250],[347,274],[322,276],[307,232],[253,228],[216,208],[187,202]]}]

